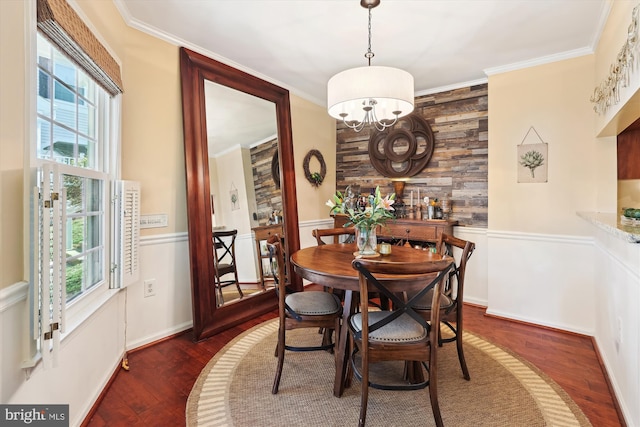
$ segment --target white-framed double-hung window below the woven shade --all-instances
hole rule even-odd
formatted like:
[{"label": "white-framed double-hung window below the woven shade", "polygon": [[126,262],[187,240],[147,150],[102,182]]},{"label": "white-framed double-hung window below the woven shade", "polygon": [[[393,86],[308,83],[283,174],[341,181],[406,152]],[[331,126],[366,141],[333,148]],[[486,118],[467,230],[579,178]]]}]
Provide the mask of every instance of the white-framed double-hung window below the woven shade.
[{"label": "white-framed double-hung window below the woven shade", "polygon": [[37,166],[58,164],[53,179],[66,190],[60,270],[70,302],[108,279],[110,97],[41,34],[37,52],[35,152]]}]

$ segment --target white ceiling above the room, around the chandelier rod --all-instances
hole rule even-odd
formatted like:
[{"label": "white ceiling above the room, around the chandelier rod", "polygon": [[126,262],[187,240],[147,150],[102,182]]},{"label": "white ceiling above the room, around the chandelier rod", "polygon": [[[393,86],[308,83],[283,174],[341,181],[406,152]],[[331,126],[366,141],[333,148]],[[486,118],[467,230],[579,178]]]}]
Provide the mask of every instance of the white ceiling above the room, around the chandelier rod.
[{"label": "white ceiling above the room, around the chandelier rod", "polygon": [[[382,0],[372,65],[402,68],[416,95],[591,53],[612,0]],[[320,105],[327,81],[366,65],[359,0],[114,0],[132,27]]]}]

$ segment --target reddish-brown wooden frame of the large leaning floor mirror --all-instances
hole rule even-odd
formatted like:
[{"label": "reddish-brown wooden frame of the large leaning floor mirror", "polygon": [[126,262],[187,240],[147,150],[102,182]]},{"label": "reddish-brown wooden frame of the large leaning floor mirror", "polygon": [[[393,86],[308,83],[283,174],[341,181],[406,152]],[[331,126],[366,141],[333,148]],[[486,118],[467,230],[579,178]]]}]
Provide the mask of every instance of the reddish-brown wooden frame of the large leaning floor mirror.
[{"label": "reddish-brown wooden frame of the large leaning floor mirror", "polygon": [[[187,215],[191,266],[193,333],[196,341],[242,323],[277,307],[273,289],[220,305],[216,299],[212,192],[207,134],[205,85],[214,83],[248,94],[275,105],[277,154],[282,191],[282,230],[286,253],[300,248],[296,201],[293,140],[289,92],[272,83],[215,61],[186,48],[180,48],[182,110],[184,125]],[[236,117],[242,122],[245,117]],[[269,165],[270,166],[270,165]],[[217,202],[214,202],[217,203]],[[218,207],[216,207],[218,214]],[[247,253],[244,254],[248,256]],[[259,254],[258,255],[258,259]],[[255,254],[252,254],[255,256]],[[243,257],[237,253],[236,258]],[[302,289],[302,280],[286,266],[290,286]]]}]

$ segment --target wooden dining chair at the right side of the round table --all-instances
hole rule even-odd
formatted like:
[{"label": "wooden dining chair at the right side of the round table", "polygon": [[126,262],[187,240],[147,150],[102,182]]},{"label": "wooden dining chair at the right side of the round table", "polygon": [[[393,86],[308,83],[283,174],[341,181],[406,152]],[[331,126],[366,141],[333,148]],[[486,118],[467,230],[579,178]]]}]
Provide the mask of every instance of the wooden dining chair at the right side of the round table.
[{"label": "wooden dining chair at the right side of the round table", "polygon": [[[445,281],[442,300],[440,303],[440,321],[453,336],[443,338],[441,331],[438,342],[440,345],[447,342],[455,342],[458,350],[458,360],[464,379],[469,381],[469,369],[464,358],[462,346],[463,332],[463,302],[464,302],[464,277],[467,270],[467,261],[471,257],[476,245],[473,242],[459,239],[448,234],[442,234],[436,244],[437,251],[441,255],[449,255],[455,259],[455,268],[449,272]],[[432,295],[427,294],[416,303],[416,310],[428,319],[431,316]]]}]

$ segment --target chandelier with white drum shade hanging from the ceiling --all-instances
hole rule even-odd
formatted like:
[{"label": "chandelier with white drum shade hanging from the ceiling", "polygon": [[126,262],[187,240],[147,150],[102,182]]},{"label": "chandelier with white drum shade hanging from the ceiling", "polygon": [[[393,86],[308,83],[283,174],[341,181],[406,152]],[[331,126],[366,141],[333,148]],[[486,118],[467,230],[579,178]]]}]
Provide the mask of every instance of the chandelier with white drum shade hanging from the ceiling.
[{"label": "chandelier with white drum shade hanging from the ceiling", "polygon": [[368,66],[342,71],[327,84],[329,115],[356,132],[366,125],[383,131],[413,111],[413,76],[398,68],[371,66],[371,9],[379,4],[380,0],[360,1],[369,11],[369,44],[364,54]]}]

